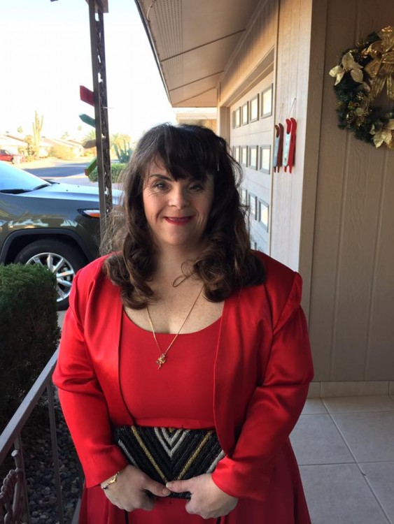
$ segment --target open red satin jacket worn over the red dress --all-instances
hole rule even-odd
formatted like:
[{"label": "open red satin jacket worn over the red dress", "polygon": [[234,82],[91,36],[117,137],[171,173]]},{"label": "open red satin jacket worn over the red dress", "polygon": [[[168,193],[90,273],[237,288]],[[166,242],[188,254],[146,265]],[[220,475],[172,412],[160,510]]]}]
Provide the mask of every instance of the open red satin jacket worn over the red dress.
[{"label": "open red satin jacket worn over the red dress", "polygon": [[[288,435],[313,376],[300,275],[266,255],[267,279],[225,300],[215,363],[214,417],[227,456],[213,480],[225,493],[265,501],[282,474],[304,504]],[[53,381],[86,476],[95,486],[127,465],[112,426],[132,424],[119,386],[122,303],[104,258],[73,282]],[[275,481],[273,479],[276,479]],[[296,521],[307,522],[307,521]]]}]

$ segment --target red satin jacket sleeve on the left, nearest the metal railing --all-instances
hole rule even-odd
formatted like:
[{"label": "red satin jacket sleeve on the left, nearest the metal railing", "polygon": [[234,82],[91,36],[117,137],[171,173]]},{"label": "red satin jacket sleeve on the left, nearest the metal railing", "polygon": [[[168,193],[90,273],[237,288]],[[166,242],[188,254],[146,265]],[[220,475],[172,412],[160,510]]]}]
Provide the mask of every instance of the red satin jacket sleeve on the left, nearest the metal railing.
[{"label": "red satin jacket sleeve on the left, nearest the metal railing", "polygon": [[113,444],[108,408],[87,354],[78,305],[78,274],[64,317],[53,382],[90,488],[124,469],[127,460]]}]

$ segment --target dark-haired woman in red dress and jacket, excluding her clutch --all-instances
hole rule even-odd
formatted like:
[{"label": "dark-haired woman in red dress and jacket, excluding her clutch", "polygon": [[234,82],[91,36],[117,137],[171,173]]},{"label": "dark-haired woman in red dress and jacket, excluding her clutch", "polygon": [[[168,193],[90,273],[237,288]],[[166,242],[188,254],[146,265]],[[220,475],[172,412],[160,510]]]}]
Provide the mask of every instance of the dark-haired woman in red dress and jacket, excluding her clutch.
[{"label": "dark-haired woman in red dress and jacket, excluding her clutch", "polygon": [[[74,280],[54,381],[85,471],[80,523],[310,523],[288,439],[312,377],[301,279],[249,248],[240,174],[213,131],[151,129],[116,251]],[[115,443],[131,425],[213,429],[225,456],[166,487]]]}]

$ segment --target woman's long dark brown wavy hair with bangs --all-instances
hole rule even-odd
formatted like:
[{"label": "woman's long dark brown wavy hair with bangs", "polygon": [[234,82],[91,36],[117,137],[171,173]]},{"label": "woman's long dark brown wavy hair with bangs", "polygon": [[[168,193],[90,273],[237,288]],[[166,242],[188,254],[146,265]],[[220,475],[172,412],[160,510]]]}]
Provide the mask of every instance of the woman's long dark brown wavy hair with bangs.
[{"label": "woman's long dark brown wavy hair with bangs", "polygon": [[262,284],[265,270],[251,250],[246,208],[239,198],[242,169],[231,157],[227,143],[203,126],[160,124],[143,135],[132,154],[123,175],[122,205],[113,212],[104,239],[103,252],[113,252],[104,269],[120,286],[123,303],[142,309],[155,300],[149,285],[156,268],[155,242],[142,198],[152,161],[160,161],[174,180],[213,177],[206,247],[185,275],[199,277],[204,282],[204,295],[212,302],[228,298],[242,286]]}]

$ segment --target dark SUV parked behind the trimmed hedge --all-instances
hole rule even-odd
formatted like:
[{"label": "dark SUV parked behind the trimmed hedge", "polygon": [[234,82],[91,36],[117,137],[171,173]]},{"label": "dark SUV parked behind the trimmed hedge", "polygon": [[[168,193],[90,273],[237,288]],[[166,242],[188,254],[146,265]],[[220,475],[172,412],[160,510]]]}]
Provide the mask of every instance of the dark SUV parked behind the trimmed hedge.
[{"label": "dark SUV parked behind the trimmed hedge", "polygon": [[[119,191],[113,191],[114,203]],[[76,272],[99,254],[97,187],[59,184],[0,161],[0,263],[55,273],[59,310]]]}]

